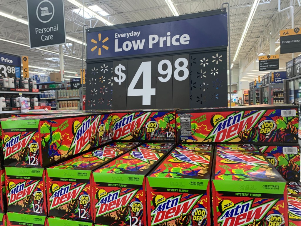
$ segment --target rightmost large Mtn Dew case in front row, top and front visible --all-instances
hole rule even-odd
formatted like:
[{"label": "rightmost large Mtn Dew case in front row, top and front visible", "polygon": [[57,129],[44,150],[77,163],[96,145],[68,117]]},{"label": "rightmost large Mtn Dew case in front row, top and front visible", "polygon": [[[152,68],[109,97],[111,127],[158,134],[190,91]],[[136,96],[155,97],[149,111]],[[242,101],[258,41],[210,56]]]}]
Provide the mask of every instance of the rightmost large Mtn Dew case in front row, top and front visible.
[{"label": "rightmost large Mtn Dew case in front row, top and front visible", "polygon": [[288,226],[287,185],[265,156],[216,145],[212,177],[215,226]]}]

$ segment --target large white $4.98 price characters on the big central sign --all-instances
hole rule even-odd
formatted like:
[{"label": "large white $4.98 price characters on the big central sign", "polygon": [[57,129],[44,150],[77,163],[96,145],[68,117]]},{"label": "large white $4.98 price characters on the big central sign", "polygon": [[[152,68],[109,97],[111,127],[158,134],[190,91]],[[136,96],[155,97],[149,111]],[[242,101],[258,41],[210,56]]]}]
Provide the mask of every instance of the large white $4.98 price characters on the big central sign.
[{"label": "large white $4.98 price characters on the big central sign", "polygon": [[[187,66],[188,60],[186,58],[176,59],[174,65],[167,59],[161,60],[158,63],[157,70],[162,76],[159,76],[158,80],[164,83],[169,81],[173,76],[178,81],[184,81],[189,76]],[[174,72],[173,68],[175,69]],[[119,85],[126,80],[126,74],[123,72],[125,70],[126,67],[122,64],[117,65],[114,69],[114,72],[117,75],[114,77],[114,81]],[[135,76],[128,86],[127,96],[142,96],[142,105],[151,105],[151,96],[156,95],[156,88],[151,88],[151,76],[153,74],[151,70],[152,61],[141,62]],[[135,89],[141,76],[143,79],[142,89]]]}]

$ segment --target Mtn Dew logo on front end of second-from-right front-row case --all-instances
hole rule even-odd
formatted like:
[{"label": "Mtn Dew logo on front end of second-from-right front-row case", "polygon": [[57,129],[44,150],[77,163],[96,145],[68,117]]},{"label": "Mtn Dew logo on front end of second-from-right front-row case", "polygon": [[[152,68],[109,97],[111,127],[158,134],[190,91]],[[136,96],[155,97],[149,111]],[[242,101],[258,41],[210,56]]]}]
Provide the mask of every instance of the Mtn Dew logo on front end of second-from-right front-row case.
[{"label": "Mtn Dew logo on front end of second-from-right front-row case", "polygon": [[187,215],[202,195],[194,196],[191,199],[180,202],[182,195],[170,197],[160,202],[151,212],[153,219],[151,225],[161,224],[166,221]]}]

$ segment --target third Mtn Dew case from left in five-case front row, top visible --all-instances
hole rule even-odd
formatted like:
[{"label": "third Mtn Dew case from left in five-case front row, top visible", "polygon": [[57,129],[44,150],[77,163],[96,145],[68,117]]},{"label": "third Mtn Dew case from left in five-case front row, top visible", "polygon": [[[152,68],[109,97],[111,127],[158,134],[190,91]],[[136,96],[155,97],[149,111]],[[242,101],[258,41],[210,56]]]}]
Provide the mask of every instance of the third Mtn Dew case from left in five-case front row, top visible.
[{"label": "third Mtn Dew case from left in five-case front row, top visible", "polygon": [[158,148],[158,143],[145,146],[132,149],[93,172],[96,225],[149,225],[146,223],[145,176],[172,150],[174,144],[168,148],[166,144]]}]

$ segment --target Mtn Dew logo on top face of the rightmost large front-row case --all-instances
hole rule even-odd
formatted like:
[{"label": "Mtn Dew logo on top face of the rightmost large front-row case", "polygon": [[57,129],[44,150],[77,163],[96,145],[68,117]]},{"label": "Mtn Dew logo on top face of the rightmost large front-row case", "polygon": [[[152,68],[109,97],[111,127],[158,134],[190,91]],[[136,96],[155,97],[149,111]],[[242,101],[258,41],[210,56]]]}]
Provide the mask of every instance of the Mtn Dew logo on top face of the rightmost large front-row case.
[{"label": "Mtn Dew logo on top face of the rightmost large front-row case", "polygon": [[268,162],[264,159],[259,159],[253,155],[245,155],[238,151],[218,150],[217,155],[223,159],[228,159],[233,162],[240,162],[247,165],[253,165],[258,167],[260,167],[260,165],[268,165]]}]

